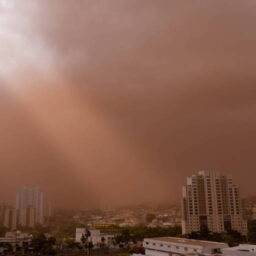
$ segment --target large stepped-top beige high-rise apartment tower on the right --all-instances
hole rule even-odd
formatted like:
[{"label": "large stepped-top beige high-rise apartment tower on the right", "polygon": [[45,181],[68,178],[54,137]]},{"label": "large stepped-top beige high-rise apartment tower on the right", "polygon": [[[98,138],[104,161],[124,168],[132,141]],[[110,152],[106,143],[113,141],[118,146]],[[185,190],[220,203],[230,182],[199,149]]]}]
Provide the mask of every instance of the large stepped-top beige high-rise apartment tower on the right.
[{"label": "large stepped-top beige high-rise apartment tower on the right", "polygon": [[236,230],[247,235],[239,188],[232,177],[200,171],[182,189],[182,233]]}]

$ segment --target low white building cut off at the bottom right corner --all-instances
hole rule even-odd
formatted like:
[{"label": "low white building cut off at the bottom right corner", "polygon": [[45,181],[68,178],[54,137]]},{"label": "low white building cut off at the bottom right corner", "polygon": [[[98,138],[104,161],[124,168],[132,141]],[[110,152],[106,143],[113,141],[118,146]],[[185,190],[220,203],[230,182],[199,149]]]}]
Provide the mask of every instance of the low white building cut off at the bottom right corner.
[{"label": "low white building cut off at the bottom right corner", "polygon": [[236,247],[225,248],[225,256],[256,256],[256,245],[240,244]]}]

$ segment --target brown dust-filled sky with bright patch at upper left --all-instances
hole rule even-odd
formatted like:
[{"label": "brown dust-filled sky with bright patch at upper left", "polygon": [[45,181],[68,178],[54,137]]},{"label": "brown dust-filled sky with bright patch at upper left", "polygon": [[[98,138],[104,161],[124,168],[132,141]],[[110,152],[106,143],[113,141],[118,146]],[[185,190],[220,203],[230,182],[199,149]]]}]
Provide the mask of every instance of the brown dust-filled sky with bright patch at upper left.
[{"label": "brown dust-filled sky with bright patch at upper left", "polygon": [[199,170],[255,195],[255,9],[0,0],[1,199],[173,203]]}]

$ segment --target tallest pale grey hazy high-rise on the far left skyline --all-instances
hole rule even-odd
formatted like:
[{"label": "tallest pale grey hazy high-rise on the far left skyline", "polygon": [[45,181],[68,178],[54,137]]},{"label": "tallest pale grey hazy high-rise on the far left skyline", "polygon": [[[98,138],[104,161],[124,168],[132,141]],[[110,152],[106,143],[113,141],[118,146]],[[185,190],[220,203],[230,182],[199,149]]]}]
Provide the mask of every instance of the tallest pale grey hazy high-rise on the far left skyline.
[{"label": "tallest pale grey hazy high-rise on the far left skyline", "polygon": [[[35,223],[43,224],[44,223],[44,205],[43,205],[43,191],[41,190],[41,188],[39,187],[21,188],[17,192],[16,208],[19,210],[20,221],[24,220],[25,217],[23,215],[25,213],[31,213],[30,215],[32,216],[31,209],[34,208]],[[20,224],[22,225],[22,223]]]}]

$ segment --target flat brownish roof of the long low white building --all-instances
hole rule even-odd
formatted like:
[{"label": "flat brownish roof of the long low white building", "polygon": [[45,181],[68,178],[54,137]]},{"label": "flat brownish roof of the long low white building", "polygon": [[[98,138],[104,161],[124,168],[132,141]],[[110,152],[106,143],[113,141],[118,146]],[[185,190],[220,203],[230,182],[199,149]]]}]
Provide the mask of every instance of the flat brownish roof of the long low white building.
[{"label": "flat brownish roof of the long low white building", "polygon": [[212,241],[203,241],[203,240],[193,240],[185,239],[179,237],[157,237],[157,238],[146,238],[145,240],[154,240],[165,243],[175,243],[175,244],[186,244],[191,246],[227,246],[225,243],[212,242]]}]

